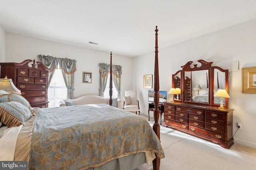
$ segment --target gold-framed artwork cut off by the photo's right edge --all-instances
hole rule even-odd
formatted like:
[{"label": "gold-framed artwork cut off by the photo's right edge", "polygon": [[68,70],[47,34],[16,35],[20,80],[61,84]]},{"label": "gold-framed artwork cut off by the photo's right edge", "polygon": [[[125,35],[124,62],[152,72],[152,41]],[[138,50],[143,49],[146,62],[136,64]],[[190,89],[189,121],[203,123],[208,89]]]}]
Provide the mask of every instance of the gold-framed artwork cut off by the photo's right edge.
[{"label": "gold-framed artwork cut off by the photo's right edge", "polygon": [[242,93],[256,93],[256,67],[242,68]]}]

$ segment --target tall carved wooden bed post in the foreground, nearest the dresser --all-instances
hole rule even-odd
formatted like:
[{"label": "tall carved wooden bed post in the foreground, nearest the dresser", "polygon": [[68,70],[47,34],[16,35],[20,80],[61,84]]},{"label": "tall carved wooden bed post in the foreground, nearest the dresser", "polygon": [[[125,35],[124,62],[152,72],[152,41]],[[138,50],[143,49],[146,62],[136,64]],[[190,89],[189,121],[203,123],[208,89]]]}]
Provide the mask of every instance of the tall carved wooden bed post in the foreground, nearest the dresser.
[{"label": "tall carved wooden bed post in the foreground, nearest the dresser", "polygon": [[[156,26],[156,46],[155,46],[155,70],[154,70],[154,104],[155,104],[155,108],[154,108],[154,120],[155,123],[153,125],[153,130],[156,133],[158,139],[160,140],[160,125],[158,123],[158,119],[159,119],[159,71],[158,71],[158,29]],[[153,162],[153,168],[154,170],[159,170],[160,167],[160,158],[158,158],[158,156],[156,156],[156,158],[152,161]]]}]

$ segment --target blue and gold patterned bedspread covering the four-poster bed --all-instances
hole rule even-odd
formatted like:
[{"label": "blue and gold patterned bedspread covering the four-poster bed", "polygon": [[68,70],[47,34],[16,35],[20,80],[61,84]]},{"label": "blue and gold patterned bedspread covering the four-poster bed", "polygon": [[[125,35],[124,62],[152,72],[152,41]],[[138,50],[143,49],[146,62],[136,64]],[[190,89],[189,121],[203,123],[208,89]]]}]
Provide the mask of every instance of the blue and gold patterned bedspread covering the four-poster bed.
[{"label": "blue and gold patterned bedspread covering the four-poster bed", "polygon": [[[37,111],[32,118],[34,123],[30,123],[32,129],[26,132],[32,132],[32,137],[21,135],[32,142],[27,144],[31,153],[20,149],[15,152],[17,159],[29,161],[30,169],[87,169],[145,151],[164,158],[160,141],[148,121],[133,113],[107,104],[38,108]],[[16,148],[24,143],[18,141]]]}]

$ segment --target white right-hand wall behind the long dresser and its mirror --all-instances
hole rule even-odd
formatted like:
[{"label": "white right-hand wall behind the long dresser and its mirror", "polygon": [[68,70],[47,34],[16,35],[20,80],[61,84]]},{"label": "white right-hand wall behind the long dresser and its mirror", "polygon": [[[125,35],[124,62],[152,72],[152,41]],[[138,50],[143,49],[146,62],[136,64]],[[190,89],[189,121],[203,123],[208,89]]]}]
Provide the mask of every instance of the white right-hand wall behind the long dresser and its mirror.
[{"label": "white right-hand wall behind the long dresser and its mirror", "polygon": [[[158,29],[159,41],[164,35],[161,35],[161,27]],[[253,148],[256,148],[256,94],[242,94],[241,68],[256,66],[255,30],[256,20],[251,20],[162,49],[158,43],[160,90],[170,90],[172,74],[188,61],[203,59],[220,67],[226,62],[239,61],[239,70],[229,76],[229,107],[234,109],[233,132],[236,122],[242,123],[242,130],[236,132],[234,142]],[[154,74],[154,56],[152,52],[134,59],[134,82],[138,82],[134,89],[138,91],[141,111],[146,115],[149,89],[143,88],[143,75]],[[168,98],[170,101],[170,96]],[[150,116],[153,117],[152,112]]]}]

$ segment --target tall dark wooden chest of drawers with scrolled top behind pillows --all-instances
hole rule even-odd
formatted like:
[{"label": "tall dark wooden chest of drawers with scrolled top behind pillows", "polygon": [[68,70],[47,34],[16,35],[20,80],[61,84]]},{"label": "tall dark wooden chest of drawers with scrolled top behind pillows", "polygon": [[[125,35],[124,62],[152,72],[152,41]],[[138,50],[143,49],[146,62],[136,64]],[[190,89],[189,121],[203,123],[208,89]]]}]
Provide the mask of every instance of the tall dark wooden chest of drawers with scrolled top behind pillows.
[{"label": "tall dark wooden chest of drawers with scrolled top behind pillows", "polygon": [[1,78],[11,78],[31,107],[48,107],[47,88],[48,71],[42,63],[35,60],[22,63],[0,63]]}]

